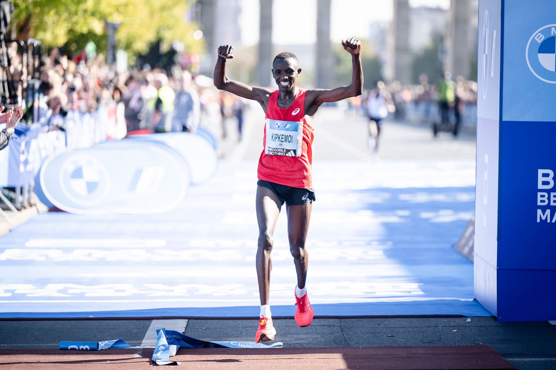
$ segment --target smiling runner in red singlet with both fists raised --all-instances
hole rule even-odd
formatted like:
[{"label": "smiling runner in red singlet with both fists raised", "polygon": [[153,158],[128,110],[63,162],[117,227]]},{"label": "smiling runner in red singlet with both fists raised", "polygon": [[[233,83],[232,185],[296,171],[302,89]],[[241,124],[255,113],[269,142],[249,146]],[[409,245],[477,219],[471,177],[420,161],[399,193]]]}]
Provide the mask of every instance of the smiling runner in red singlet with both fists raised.
[{"label": "smiling runner in red singlet with both fists raised", "polygon": [[361,69],[361,43],[355,38],[342,40],[342,46],[351,54],[353,74],[351,84],[335,89],[304,90],[295,84],[301,68],[292,53],[280,53],[272,62],[272,76],[277,90],[252,87],[230,80],[226,76],[226,60],[234,58],[230,45],[218,48],[214,69],[214,84],[242,98],[256,100],[266,113],[264,149],[259,158],[257,195],[255,200],[259,242],[256,255],[261,313],[256,342],[274,340],[276,330],[272,325],[269,305],[270,271],[274,227],[284,202],[287,212],[287,232],[291,255],[297,272],[295,287],[295,321],[300,327],[309,326],[313,310],[307,297],[305,280],[309,256],[305,239],[309,230],[311,205],[315,200],[312,189],[311,163],[313,127],[312,118],[322,103],[355,97],[363,92]]}]

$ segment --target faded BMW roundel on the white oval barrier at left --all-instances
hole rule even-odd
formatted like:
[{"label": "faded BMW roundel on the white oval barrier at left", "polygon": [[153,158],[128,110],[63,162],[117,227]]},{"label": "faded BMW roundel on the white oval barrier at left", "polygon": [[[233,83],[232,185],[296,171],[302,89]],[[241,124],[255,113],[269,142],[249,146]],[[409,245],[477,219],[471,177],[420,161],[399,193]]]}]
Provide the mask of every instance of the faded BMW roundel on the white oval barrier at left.
[{"label": "faded BMW roundel on the white oval barrier at left", "polygon": [[69,157],[60,172],[64,194],[77,204],[96,205],[108,194],[110,184],[106,168],[90,155]]}]

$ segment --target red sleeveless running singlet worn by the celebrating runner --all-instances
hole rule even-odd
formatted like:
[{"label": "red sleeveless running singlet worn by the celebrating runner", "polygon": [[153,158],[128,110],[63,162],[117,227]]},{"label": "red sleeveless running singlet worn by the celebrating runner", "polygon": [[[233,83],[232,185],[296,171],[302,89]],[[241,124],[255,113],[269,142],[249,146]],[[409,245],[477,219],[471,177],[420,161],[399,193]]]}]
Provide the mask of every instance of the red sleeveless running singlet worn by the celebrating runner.
[{"label": "red sleeveless running singlet worn by the celebrating runner", "polygon": [[264,149],[259,158],[259,180],[312,188],[313,128],[305,119],[305,91],[297,90],[294,103],[282,109],[276,102],[279,90],[270,94],[266,108]]}]

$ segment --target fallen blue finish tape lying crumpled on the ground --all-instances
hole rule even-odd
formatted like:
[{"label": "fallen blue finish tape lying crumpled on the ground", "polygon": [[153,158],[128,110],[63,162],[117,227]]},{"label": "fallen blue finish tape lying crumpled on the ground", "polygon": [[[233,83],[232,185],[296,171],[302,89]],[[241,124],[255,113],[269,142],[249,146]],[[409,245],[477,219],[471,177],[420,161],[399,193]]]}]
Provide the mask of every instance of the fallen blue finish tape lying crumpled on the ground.
[{"label": "fallen blue finish tape lying crumpled on the ground", "polygon": [[158,329],[156,331],[156,347],[131,346],[122,339],[103,342],[60,342],[60,349],[81,349],[85,351],[100,351],[108,348],[155,348],[152,361],[157,365],[179,365],[179,362],[170,361],[180,347],[183,348],[271,348],[282,347],[282,342],[267,346],[256,342],[206,342],[186,336],[177,331]]}]

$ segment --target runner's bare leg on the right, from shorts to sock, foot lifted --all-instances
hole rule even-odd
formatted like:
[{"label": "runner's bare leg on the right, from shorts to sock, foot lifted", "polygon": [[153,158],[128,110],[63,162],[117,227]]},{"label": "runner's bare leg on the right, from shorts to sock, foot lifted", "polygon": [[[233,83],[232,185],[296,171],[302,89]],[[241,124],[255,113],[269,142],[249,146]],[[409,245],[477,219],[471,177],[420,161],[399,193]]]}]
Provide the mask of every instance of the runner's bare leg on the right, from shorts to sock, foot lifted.
[{"label": "runner's bare leg on the right, from shorts to sock, foot lifted", "polygon": [[307,266],[309,255],[305,250],[305,240],[309,231],[312,204],[299,206],[286,206],[287,212],[287,237],[290,241],[290,252],[294,257],[295,271],[297,272],[297,287],[303,289],[307,280]]}]

